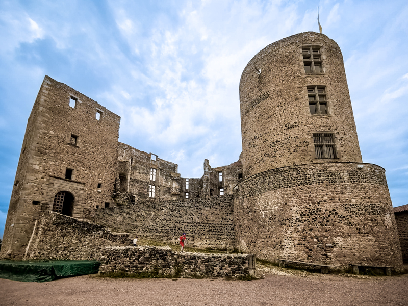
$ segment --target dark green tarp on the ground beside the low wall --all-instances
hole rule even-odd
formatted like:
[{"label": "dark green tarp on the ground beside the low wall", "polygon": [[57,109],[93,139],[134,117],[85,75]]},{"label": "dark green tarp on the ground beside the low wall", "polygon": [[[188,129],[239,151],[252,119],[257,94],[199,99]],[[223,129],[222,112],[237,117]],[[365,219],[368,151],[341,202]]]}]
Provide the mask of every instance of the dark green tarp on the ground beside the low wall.
[{"label": "dark green tarp on the ground beside the low wall", "polygon": [[0,261],[0,278],[20,282],[50,282],[53,279],[98,273],[100,262],[90,260]]}]

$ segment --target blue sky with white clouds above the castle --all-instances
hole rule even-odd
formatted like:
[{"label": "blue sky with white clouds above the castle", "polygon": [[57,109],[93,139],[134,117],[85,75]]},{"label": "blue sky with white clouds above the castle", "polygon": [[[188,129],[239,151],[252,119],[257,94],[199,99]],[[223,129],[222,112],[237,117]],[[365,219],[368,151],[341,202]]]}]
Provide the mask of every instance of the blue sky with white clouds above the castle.
[{"label": "blue sky with white clouds above the castle", "polygon": [[307,31],[340,46],[363,161],[408,203],[406,1],[0,1],[0,237],[44,75],[121,116],[119,141],[201,177],[242,150],[239,80],[268,44]]}]

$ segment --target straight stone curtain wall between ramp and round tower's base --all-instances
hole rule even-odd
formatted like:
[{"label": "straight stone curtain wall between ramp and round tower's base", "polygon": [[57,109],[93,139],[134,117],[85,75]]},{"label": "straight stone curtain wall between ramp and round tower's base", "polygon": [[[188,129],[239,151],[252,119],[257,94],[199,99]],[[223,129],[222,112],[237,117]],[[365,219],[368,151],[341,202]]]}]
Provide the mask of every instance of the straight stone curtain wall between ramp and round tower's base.
[{"label": "straight stone curtain wall between ramp and round tower's base", "polygon": [[[171,201],[149,201],[95,211],[95,222],[118,226],[120,231],[178,244],[187,233],[187,245],[198,248],[234,248],[233,196]],[[117,225],[116,225],[117,224]]]}]

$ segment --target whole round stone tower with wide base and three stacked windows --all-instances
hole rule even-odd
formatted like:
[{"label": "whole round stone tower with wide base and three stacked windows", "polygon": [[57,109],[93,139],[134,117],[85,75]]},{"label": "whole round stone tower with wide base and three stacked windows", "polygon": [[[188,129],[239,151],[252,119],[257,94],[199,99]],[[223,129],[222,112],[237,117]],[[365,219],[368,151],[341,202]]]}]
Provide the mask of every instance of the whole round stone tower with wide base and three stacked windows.
[{"label": "whole round stone tower with wide base and three stacked windows", "polygon": [[337,43],[307,32],[268,45],[242,73],[240,106],[237,248],[401,270],[385,170],[362,163]]}]

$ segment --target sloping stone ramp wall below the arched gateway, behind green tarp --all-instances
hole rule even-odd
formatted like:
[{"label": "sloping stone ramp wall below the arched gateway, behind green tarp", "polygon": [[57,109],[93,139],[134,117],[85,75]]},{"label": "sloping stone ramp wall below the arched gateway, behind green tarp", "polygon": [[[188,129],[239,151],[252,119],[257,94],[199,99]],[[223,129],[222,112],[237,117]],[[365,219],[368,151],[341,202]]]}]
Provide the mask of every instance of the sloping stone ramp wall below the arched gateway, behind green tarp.
[{"label": "sloping stone ramp wall below the arched gateway, behind green tarp", "polygon": [[25,259],[96,260],[106,246],[130,245],[128,233],[59,213],[40,212]]}]

